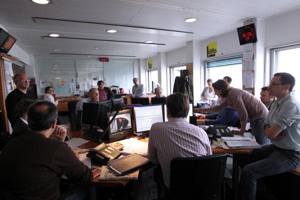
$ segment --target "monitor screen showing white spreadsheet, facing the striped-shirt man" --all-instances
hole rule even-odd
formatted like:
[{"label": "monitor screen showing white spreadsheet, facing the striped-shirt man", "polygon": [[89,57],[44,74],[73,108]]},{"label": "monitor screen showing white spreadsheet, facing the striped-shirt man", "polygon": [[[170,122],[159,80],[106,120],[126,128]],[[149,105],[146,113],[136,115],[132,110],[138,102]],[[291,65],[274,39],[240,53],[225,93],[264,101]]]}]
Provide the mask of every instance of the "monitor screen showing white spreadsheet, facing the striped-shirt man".
[{"label": "monitor screen showing white spreadsheet, facing the striped-shirt man", "polygon": [[149,105],[134,108],[136,132],[149,131],[152,124],[163,122],[162,105]]}]

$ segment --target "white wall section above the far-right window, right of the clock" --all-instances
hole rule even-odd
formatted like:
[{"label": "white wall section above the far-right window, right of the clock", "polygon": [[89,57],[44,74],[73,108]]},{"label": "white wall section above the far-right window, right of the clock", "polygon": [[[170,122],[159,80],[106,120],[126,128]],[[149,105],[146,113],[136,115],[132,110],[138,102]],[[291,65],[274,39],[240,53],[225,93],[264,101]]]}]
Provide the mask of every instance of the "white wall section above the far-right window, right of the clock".
[{"label": "white wall section above the far-right window, right of the clock", "polygon": [[267,20],[267,47],[278,47],[300,42],[300,9]]}]

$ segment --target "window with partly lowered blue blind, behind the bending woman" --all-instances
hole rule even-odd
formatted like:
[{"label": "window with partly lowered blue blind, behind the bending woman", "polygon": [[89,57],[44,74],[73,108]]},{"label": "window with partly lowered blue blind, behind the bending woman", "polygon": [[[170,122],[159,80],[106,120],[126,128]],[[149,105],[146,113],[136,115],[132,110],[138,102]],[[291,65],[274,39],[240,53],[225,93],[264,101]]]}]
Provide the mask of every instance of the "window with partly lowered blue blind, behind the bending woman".
[{"label": "window with partly lowered blue blind, behind the bending woman", "polygon": [[213,81],[223,79],[224,76],[232,78],[231,85],[235,88],[242,88],[242,61],[241,57],[231,57],[214,61],[206,61],[206,80],[212,78]]}]

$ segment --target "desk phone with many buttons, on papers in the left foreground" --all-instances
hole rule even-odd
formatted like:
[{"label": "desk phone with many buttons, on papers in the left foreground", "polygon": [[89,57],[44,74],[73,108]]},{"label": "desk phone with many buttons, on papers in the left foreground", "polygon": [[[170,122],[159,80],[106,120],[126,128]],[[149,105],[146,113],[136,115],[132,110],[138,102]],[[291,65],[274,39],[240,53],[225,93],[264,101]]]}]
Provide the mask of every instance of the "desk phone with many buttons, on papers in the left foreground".
[{"label": "desk phone with many buttons, on papers in the left foreground", "polygon": [[89,150],[86,157],[92,159],[95,162],[107,165],[109,160],[114,160],[121,156],[121,152],[105,143],[101,143],[96,147]]}]

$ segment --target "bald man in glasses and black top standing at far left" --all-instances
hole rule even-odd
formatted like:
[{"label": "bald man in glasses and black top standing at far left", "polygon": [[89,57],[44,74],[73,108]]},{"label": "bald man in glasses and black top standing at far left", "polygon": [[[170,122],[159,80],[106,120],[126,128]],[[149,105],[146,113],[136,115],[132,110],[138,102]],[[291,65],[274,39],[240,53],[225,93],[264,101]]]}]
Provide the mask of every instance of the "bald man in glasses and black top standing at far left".
[{"label": "bald man in glasses and black top standing at far left", "polygon": [[16,74],[13,80],[17,88],[10,92],[5,99],[7,116],[12,127],[14,127],[15,122],[18,120],[15,112],[17,104],[22,99],[36,100],[34,93],[27,90],[30,79],[25,74]]}]

